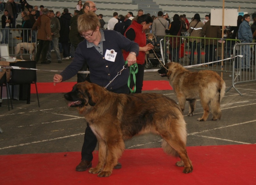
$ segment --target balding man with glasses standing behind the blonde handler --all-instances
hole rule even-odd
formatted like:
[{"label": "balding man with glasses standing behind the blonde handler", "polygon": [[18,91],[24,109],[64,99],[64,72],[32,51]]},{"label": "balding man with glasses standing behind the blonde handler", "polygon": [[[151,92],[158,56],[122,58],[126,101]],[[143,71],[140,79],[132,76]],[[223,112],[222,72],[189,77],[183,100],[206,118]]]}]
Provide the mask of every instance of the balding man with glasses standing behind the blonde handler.
[{"label": "balding man with glasses standing behind the blonde handler", "polygon": [[[80,37],[80,33],[77,29],[77,18],[79,15],[82,15],[84,13],[88,12],[95,12],[97,10],[96,5],[92,1],[85,1],[83,9],[81,9],[77,15],[73,16],[70,20],[70,31],[69,31],[69,40],[71,44],[74,46],[75,51],[77,48],[77,45],[84,40],[83,37]],[[87,63],[84,62],[84,65],[80,69],[80,71],[86,71],[87,70]],[[86,79],[86,74],[77,74],[77,82],[84,82]]]}]

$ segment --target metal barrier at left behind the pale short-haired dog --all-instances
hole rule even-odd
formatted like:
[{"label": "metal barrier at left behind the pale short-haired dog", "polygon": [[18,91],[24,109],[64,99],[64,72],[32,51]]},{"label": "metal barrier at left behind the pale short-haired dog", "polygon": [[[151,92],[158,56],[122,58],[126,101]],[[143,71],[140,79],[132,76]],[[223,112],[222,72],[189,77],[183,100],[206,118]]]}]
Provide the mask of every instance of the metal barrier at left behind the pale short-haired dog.
[{"label": "metal barrier at left behind the pale short-haired dog", "polygon": [[[35,43],[36,40],[36,31],[33,31],[31,29],[12,29],[12,28],[1,28],[1,44],[8,44],[9,46],[9,56],[18,56],[17,58],[20,57],[20,55],[25,56],[25,55],[29,55],[30,56],[30,60],[32,60],[32,56],[29,53],[28,49],[22,50],[22,48],[17,49],[17,51],[15,51],[15,47],[17,46],[17,44],[25,42],[25,43]],[[25,44],[26,45],[26,44]],[[29,48],[29,45],[26,45],[27,48]],[[25,47],[26,47],[25,46]],[[20,52],[22,52],[22,54],[20,54]],[[34,51],[34,54],[36,54],[36,48]]]}]

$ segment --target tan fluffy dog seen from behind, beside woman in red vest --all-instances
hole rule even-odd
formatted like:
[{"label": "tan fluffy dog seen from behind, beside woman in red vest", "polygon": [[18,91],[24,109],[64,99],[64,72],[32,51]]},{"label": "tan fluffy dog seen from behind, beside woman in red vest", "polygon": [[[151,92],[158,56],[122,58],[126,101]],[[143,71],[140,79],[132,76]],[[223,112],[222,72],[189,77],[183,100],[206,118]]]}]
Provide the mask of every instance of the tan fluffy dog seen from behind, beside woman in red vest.
[{"label": "tan fluffy dog seen from behind, beside woman in red vest", "polygon": [[162,76],[167,76],[170,84],[175,91],[180,108],[183,111],[186,100],[189,102],[188,116],[193,116],[196,107],[196,99],[200,98],[204,109],[202,117],[198,121],[206,121],[209,116],[209,104],[212,111],[212,120],[220,119],[220,101],[225,95],[225,82],[214,71],[201,70],[190,72],[183,68],[179,63],[168,62],[165,68],[159,69]]}]

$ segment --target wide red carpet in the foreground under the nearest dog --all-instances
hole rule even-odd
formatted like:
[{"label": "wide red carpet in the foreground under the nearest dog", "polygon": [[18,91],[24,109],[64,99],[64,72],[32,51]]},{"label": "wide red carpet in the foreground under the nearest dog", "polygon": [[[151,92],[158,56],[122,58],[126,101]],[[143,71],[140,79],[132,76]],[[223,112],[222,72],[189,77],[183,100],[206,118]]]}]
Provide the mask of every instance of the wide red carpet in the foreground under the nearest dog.
[{"label": "wide red carpet in the foreground under the nearest dog", "polygon": [[[125,150],[110,177],[76,172],[80,152],[0,155],[0,184],[255,184],[256,145],[187,147],[194,171],[183,174],[161,148]],[[92,167],[98,153],[94,153]]]}]

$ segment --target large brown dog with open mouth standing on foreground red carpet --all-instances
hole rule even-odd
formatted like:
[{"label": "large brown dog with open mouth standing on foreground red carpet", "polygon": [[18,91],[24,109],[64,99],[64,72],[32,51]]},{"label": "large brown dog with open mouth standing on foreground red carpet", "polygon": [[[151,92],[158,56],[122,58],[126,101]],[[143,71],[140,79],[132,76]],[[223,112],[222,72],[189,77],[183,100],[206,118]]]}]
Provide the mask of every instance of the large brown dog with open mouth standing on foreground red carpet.
[{"label": "large brown dog with open mouth standing on foreground red carpet", "polygon": [[124,139],[153,132],[164,151],[180,157],[177,166],[192,172],[186,151],[186,123],[177,103],[161,94],[116,94],[96,84],[77,83],[64,95],[84,115],[99,142],[99,162],[90,173],[108,177],[124,151]]}]

